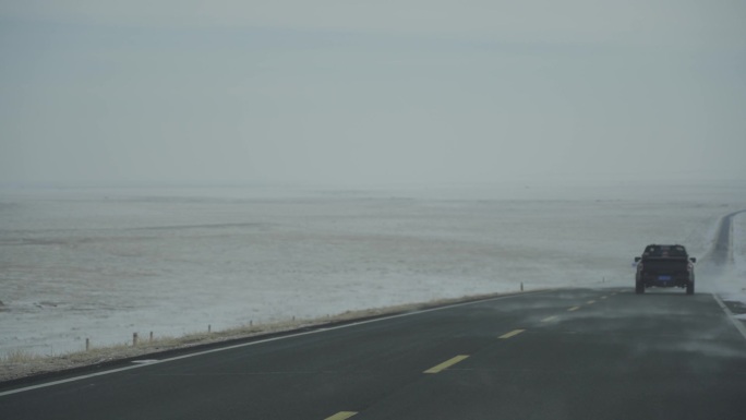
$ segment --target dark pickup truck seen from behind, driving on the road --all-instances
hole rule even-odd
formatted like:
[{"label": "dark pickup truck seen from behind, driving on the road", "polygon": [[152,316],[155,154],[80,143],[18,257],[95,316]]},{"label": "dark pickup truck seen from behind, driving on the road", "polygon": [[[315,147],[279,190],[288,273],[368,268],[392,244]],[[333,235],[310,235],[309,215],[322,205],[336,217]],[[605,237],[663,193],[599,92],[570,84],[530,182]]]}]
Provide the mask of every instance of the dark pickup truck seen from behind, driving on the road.
[{"label": "dark pickup truck seen from behind, driving on the road", "polygon": [[682,245],[652,244],[645,248],[642,256],[636,256],[637,274],[635,292],[645,293],[649,287],[681,287],[694,295],[694,264],[697,259],[686,253]]}]

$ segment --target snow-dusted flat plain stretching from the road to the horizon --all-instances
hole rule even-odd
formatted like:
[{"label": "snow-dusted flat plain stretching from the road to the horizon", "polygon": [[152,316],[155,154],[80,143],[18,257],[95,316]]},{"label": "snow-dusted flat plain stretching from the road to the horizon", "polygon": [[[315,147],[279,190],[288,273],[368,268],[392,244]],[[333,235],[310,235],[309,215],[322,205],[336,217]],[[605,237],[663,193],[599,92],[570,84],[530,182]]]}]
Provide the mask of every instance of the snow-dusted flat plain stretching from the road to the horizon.
[{"label": "snow-dusted flat plain stretching from the road to the horizon", "polygon": [[[743,182],[0,191],[0,357],[560,286],[631,287],[650,242],[702,256]],[[737,268],[698,291],[744,298]]]}]

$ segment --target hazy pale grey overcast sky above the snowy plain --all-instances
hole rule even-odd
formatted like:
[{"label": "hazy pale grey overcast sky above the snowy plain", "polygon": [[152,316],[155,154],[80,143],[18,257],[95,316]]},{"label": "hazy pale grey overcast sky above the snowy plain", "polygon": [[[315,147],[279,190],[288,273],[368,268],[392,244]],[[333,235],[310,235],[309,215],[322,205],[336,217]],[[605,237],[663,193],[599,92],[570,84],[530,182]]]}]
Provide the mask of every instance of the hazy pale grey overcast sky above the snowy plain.
[{"label": "hazy pale grey overcast sky above the snowy plain", "polygon": [[746,180],[743,0],[4,0],[0,183]]}]

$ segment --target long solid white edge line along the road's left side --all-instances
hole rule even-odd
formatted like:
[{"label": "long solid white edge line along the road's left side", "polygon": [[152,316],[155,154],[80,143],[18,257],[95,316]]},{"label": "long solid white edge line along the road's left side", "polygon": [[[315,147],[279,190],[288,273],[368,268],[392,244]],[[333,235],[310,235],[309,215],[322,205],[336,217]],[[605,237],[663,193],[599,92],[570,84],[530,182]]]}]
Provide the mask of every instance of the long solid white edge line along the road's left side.
[{"label": "long solid white edge line along the road's left side", "polygon": [[[87,380],[87,379],[91,379],[91,377],[108,375],[108,374],[110,374],[110,373],[123,372],[123,371],[129,371],[129,370],[132,370],[132,369],[147,368],[147,367],[152,367],[152,365],[154,365],[154,364],[171,362],[171,361],[175,361],[175,360],[188,359],[188,358],[193,358],[193,357],[203,356],[203,355],[209,355],[209,353],[214,353],[214,352],[218,352],[218,351],[232,350],[232,349],[237,349],[237,348],[241,348],[241,347],[256,346],[256,345],[260,345],[260,344],[270,343],[270,341],[277,341],[277,340],[286,339],[286,338],[301,337],[301,336],[304,336],[304,335],[318,334],[318,333],[324,333],[324,332],[327,332],[327,331],[341,329],[341,328],[347,328],[347,327],[357,326],[357,325],[364,325],[364,324],[370,324],[370,323],[380,322],[380,321],[395,320],[395,319],[397,319],[397,317],[418,315],[418,314],[421,314],[421,313],[441,311],[441,310],[445,310],[445,309],[449,309],[449,308],[466,307],[466,305],[469,305],[469,304],[477,304],[477,303],[482,303],[482,302],[491,302],[491,301],[493,301],[493,300],[509,299],[509,298],[522,297],[522,296],[526,296],[526,295],[548,293],[548,292],[550,292],[550,291],[554,291],[554,290],[550,289],[550,290],[531,291],[531,292],[517,293],[517,295],[497,296],[497,297],[495,297],[495,298],[490,298],[490,299],[484,299],[484,300],[477,300],[477,301],[473,301],[473,302],[454,303],[454,304],[449,304],[449,305],[446,305],[446,307],[423,309],[423,310],[414,311],[414,312],[407,312],[407,313],[399,313],[399,314],[396,314],[396,315],[389,315],[389,316],[384,316],[384,317],[376,317],[376,319],[374,319],[374,320],[359,321],[359,322],[354,322],[354,323],[351,323],[351,324],[337,325],[337,326],[332,326],[332,327],[326,327],[326,328],[306,331],[306,332],[303,332],[303,333],[296,333],[296,334],[290,334],[290,335],[284,335],[284,336],[281,336],[281,337],[265,338],[265,339],[261,339],[261,340],[257,340],[257,341],[243,343],[243,344],[233,345],[233,346],[227,346],[227,347],[219,347],[219,348],[214,348],[214,349],[210,349],[210,350],[204,350],[204,351],[194,352],[194,353],[189,353],[189,355],[183,355],[183,356],[177,356],[177,357],[172,357],[172,358],[168,358],[168,359],[154,360],[154,361],[152,361],[152,362],[149,362],[149,363],[139,363],[139,364],[133,364],[133,365],[125,367],[125,368],[111,369],[111,370],[108,370],[108,371],[95,372],[95,373],[89,373],[89,374],[86,374],[86,375],[74,376],[74,377],[68,377],[68,379],[65,379],[65,380],[46,382],[46,383],[44,383],[44,384],[32,385],[32,386],[26,386],[26,387],[23,387],[23,388],[5,391],[5,392],[1,392],[1,393],[0,393],[0,397],[4,397],[4,396],[11,395],[11,394],[24,393],[24,392],[27,392],[27,391],[33,391],[33,389],[38,389],[38,388],[45,388],[45,387],[47,387],[47,386],[53,386],[53,385],[65,384],[65,383],[68,383],[68,382],[75,382],[75,381]],[[746,333],[745,333],[744,337],[746,337]]]}]

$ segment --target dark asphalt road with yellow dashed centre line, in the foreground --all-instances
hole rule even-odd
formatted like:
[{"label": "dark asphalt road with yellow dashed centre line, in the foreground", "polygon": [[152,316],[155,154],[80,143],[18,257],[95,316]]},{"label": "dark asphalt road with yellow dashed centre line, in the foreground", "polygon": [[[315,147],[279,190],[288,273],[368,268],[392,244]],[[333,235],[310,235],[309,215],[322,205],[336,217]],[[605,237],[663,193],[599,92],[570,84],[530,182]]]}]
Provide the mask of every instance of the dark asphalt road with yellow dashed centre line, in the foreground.
[{"label": "dark asphalt road with yellow dashed centre line, in the foreground", "polygon": [[713,296],[631,286],[517,295],[0,388],[9,420],[745,417],[746,337]]}]

